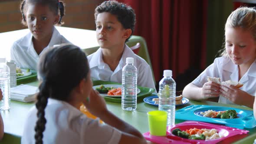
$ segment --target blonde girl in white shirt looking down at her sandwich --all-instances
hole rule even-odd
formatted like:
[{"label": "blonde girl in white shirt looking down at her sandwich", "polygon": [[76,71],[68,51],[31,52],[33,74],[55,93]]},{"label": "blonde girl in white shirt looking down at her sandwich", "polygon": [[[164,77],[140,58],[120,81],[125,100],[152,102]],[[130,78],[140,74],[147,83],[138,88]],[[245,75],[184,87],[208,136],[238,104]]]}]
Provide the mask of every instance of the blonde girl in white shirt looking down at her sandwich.
[{"label": "blonde girl in white shirt looking down at her sandwich", "polygon": [[[243,83],[241,88],[229,84],[207,82],[207,76],[221,81]],[[225,25],[225,49],[193,82],[183,96],[202,100],[218,98],[220,103],[253,108],[256,85],[256,10],[240,7],[228,17]]]}]

